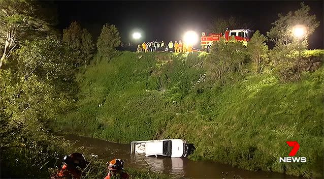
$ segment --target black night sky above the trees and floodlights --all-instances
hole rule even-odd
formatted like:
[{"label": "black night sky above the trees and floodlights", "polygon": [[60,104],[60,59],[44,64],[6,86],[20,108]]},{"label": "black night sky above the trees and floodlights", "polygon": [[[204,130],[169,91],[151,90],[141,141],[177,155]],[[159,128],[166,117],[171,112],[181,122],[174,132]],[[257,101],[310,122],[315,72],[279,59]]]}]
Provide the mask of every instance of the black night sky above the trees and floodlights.
[{"label": "black night sky above the trees and floodlights", "polygon": [[[131,41],[134,29],[140,29],[144,41],[179,40],[184,32],[206,32],[212,19],[230,16],[247,19],[250,29],[266,34],[278,13],[300,8],[301,1],[56,1],[60,29],[79,21],[94,39],[105,23],[115,24],[122,41]],[[323,48],[323,1],[305,1],[320,26],[310,37],[310,49]]]}]

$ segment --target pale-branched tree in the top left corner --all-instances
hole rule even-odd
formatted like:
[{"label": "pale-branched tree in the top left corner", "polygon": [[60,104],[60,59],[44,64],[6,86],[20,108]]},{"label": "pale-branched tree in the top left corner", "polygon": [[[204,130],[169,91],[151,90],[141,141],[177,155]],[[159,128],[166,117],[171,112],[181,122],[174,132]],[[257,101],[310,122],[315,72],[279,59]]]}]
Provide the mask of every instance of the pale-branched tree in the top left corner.
[{"label": "pale-branched tree in the top left corner", "polygon": [[38,16],[39,5],[29,0],[0,1],[0,69],[13,50],[25,39],[51,32],[49,24]]}]

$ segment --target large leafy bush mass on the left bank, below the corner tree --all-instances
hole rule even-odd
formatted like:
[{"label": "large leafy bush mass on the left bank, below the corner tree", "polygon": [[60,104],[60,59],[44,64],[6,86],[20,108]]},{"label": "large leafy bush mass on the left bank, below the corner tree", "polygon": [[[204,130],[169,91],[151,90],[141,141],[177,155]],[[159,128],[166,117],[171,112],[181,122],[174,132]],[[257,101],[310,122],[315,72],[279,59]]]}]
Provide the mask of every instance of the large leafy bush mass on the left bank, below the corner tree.
[{"label": "large leafy bush mass on the left bank, below the corner tree", "polygon": [[55,37],[25,42],[0,71],[1,175],[48,177],[70,152],[47,123],[70,109],[77,91],[69,51]]}]

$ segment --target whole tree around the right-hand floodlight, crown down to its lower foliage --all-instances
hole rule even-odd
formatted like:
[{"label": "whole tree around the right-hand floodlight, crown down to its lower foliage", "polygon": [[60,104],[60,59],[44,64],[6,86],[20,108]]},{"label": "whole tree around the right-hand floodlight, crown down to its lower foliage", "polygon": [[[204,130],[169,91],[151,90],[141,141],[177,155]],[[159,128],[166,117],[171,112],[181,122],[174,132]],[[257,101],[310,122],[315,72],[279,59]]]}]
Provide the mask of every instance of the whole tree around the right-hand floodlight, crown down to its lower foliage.
[{"label": "whole tree around the right-hand floodlight, crown down to its lower foliage", "polygon": [[[270,59],[283,82],[300,78],[302,51],[308,47],[308,37],[319,26],[316,16],[310,15],[309,11],[309,6],[301,3],[301,8],[295,12],[290,11],[285,16],[278,14],[279,19],[272,23],[273,27],[267,32],[269,39],[275,43],[274,49],[270,50]],[[296,25],[306,28],[302,39],[293,34]]]}]

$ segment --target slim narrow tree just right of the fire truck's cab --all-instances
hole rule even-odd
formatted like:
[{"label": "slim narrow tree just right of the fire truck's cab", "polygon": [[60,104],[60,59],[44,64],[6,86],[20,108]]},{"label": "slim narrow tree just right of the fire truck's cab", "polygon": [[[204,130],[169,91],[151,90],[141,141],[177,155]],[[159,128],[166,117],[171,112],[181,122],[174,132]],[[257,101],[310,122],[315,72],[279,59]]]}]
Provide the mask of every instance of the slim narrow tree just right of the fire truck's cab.
[{"label": "slim narrow tree just right of the fire truck's cab", "polygon": [[248,54],[253,62],[254,69],[257,73],[261,73],[265,62],[268,59],[267,37],[256,31],[250,42],[247,44]]}]

